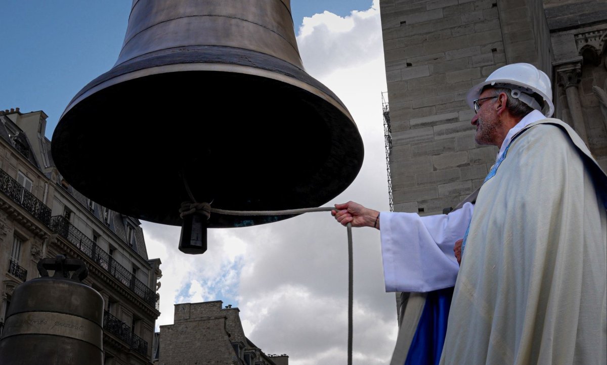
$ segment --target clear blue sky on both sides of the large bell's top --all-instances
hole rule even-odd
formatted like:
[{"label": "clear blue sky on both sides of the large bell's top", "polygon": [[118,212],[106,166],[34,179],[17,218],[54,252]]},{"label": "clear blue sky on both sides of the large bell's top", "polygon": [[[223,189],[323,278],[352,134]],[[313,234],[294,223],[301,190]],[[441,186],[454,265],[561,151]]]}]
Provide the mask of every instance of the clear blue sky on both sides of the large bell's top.
[{"label": "clear blue sky on both sides of the large bell's top", "polygon": [[[294,0],[297,29],[325,10],[347,16],[371,0]],[[70,99],[118,58],[131,10],[127,0],[2,0],[0,109],[44,110],[50,139]]]}]

